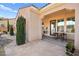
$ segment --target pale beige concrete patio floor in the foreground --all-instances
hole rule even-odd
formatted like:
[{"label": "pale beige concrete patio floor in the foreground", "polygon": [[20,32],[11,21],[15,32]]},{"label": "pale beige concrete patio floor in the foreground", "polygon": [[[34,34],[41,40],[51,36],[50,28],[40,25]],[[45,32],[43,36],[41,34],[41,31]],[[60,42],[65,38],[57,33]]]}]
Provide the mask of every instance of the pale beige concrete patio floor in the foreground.
[{"label": "pale beige concrete patio floor in the foreground", "polygon": [[66,56],[65,44],[61,40],[44,38],[17,46],[13,41],[5,47],[6,56]]}]

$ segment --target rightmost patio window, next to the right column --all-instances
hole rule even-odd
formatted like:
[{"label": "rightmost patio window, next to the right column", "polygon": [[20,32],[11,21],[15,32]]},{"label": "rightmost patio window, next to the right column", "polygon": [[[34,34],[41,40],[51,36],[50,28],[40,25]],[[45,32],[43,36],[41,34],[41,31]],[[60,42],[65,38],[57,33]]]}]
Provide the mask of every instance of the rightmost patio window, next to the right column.
[{"label": "rightmost patio window, next to the right column", "polygon": [[68,18],[67,19],[67,32],[68,33],[75,32],[74,25],[75,25],[75,17]]}]

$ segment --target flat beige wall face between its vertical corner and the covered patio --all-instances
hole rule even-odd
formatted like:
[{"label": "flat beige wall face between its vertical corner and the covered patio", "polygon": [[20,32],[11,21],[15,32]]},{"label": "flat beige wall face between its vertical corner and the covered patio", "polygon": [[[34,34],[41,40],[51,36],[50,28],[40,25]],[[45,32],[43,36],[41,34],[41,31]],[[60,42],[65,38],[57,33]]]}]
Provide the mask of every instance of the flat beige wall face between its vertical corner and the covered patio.
[{"label": "flat beige wall face between its vertical corner and the covered patio", "polygon": [[31,40],[40,40],[42,39],[42,21],[40,19],[39,13],[30,11],[30,20],[29,20],[29,38]]}]

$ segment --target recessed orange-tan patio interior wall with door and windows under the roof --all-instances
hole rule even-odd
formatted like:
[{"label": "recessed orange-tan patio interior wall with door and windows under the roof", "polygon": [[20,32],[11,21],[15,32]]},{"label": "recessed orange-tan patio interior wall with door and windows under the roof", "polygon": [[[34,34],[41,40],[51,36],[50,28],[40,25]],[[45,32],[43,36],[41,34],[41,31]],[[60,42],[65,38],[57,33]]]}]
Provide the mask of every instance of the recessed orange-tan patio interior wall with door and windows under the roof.
[{"label": "recessed orange-tan patio interior wall with door and windows under the roof", "polygon": [[47,14],[42,20],[42,26],[43,34],[46,36],[74,40],[75,10],[64,8]]}]

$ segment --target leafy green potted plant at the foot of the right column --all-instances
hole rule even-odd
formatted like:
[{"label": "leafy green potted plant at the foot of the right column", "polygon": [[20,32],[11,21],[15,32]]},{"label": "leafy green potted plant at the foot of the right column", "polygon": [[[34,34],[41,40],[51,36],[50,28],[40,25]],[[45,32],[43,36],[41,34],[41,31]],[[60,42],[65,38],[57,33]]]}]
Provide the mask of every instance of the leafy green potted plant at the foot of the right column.
[{"label": "leafy green potted plant at the foot of the right column", "polygon": [[68,43],[66,44],[66,54],[72,56],[74,51],[75,47],[73,41],[68,41]]}]

